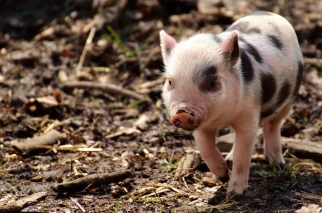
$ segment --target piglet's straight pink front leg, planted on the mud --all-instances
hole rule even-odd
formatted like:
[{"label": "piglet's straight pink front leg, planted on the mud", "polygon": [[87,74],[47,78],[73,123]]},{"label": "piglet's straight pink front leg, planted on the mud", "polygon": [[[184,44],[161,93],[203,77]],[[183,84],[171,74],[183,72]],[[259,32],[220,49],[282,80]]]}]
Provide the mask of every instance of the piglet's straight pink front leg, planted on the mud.
[{"label": "piglet's straight pink front leg, planted on the mud", "polygon": [[258,121],[254,119],[247,124],[235,127],[236,143],[233,156],[232,176],[228,183],[227,197],[243,194],[248,187],[249,168],[254,149]]}]

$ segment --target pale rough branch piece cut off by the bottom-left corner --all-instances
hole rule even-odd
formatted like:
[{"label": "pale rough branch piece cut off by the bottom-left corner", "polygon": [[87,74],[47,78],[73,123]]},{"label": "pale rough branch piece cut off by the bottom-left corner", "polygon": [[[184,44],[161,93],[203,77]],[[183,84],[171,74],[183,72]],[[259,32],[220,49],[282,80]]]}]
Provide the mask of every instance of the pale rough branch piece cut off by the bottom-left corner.
[{"label": "pale rough branch piece cut off by the bottom-left corner", "polygon": [[22,209],[45,199],[47,192],[37,192],[19,200],[8,200],[0,202],[0,213],[20,212]]}]

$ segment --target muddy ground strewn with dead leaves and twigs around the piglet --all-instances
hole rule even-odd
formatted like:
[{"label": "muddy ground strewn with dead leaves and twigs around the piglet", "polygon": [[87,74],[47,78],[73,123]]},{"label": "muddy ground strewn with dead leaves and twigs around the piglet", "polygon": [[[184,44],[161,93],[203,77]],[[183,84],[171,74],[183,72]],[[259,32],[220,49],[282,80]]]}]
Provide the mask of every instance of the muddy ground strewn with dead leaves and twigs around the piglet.
[{"label": "muddy ground strewn with dead leaves and twigs around the piglet", "polygon": [[[255,10],[286,17],[305,57],[299,97],[282,135],[322,143],[322,3],[204,2],[1,2],[0,207],[46,191],[23,211],[320,212],[322,159],[316,156],[285,150],[284,168],[254,158],[242,200],[227,200],[227,185],[214,181],[203,163],[183,176],[174,172],[196,147],[190,133],[170,125],[160,101],[159,30],[176,38],[197,31],[217,34]],[[76,80],[116,84],[140,95],[66,86]],[[64,140],[34,150],[14,146],[53,129]],[[229,132],[223,128],[219,135]],[[261,142],[256,153],[262,153]],[[130,177],[81,192],[51,189],[89,174],[123,170],[130,170]]]}]

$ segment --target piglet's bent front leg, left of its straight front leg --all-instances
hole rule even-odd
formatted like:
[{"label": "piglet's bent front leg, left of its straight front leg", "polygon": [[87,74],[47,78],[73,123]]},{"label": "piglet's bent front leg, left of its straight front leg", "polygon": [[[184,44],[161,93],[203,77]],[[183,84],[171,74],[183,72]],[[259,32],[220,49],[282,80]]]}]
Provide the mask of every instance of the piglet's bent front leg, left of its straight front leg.
[{"label": "piglet's bent front leg, left of its straight front leg", "polygon": [[216,130],[196,130],[193,136],[209,170],[221,181],[227,182],[229,178],[227,164],[223,155],[216,148],[216,132]]}]

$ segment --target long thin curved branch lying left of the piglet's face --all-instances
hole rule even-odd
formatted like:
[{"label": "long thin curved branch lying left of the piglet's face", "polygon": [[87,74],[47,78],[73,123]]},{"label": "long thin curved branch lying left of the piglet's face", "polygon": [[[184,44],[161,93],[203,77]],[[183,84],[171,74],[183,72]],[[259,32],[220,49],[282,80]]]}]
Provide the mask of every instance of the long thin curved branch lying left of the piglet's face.
[{"label": "long thin curved branch lying left of the piglet's face", "polygon": [[111,93],[120,93],[123,95],[134,97],[136,99],[143,99],[144,98],[143,95],[141,95],[135,91],[125,89],[122,86],[118,86],[115,84],[103,84],[103,83],[92,82],[92,81],[70,81],[70,82],[64,82],[63,87],[64,88],[99,89],[99,90],[111,92]]}]

